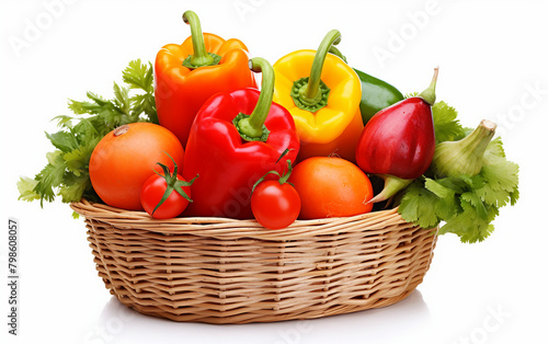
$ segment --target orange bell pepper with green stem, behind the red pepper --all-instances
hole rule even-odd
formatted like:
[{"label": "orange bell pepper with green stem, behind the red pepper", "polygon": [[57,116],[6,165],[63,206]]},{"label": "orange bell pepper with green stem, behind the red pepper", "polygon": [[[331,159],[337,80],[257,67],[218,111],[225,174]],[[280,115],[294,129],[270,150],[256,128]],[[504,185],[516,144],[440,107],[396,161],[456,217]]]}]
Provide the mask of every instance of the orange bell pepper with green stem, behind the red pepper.
[{"label": "orange bell pepper with green stem, behind the red pepper", "polygon": [[168,44],[158,51],[155,98],[160,125],[185,147],[194,117],[209,96],[256,88],[256,82],[241,41],[203,34],[192,11],[184,12],[183,20],[191,25],[192,35],[181,45]]}]

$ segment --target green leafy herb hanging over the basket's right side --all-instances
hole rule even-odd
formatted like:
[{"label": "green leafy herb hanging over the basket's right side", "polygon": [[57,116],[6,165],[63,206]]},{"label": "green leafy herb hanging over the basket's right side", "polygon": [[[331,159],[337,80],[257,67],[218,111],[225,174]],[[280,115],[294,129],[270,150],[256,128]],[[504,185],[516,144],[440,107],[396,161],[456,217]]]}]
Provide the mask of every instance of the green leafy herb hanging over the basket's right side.
[{"label": "green leafy herb hanging over the basket's right side", "polygon": [[[455,141],[471,130],[463,127],[455,108],[445,102],[432,107],[436,142]],[[493,139],[483,153],[477,175],[416,179],[398,196],[398,211],[423,228],[442,225],[439,234],[455,233],[463,242],[482,241],[493,231],[499,208],[520,197],[518,165],[507,161],[502,141]]]}]

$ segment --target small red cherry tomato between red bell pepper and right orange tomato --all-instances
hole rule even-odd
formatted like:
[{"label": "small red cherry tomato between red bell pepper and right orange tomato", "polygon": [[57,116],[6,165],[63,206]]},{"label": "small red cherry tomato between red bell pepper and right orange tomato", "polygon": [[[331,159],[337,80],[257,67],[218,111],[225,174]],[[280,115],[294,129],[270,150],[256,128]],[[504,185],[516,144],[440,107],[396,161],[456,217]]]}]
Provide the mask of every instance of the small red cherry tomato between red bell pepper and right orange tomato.
[{"label": "small red cherry tomato between red bell pepper and right orange tomato", "polygon": [[264,181],[251,195],[251,210],[262,226],[270,229],[286,228],[299,216],[300,197],[287,183]]}]

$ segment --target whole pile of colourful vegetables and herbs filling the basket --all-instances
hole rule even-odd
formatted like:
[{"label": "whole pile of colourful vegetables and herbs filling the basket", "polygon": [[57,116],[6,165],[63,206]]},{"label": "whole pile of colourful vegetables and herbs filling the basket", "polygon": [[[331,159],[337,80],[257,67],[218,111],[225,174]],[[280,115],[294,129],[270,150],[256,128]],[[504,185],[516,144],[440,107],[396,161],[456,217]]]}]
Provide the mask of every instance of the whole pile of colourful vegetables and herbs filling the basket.
[{"label": "whole pile of colourful vegetables and herbs filling the basket", "polygon": [[464,127],[436,102],[437,68],[426,90],[403,96],[352,68],[336,30],[317,50],[271,65],[249,60],[238,39],[202,33],[194,12],[183,20],[192,35],[163,46],[153,67],[132,61],[112,100],[69,102],[73,115],[46,134],[56,150],[21,177],[20,199],[255,218],[271,229],[390,206],[464,242],[482,241],[516,203],[518,167],[496,125]]}]

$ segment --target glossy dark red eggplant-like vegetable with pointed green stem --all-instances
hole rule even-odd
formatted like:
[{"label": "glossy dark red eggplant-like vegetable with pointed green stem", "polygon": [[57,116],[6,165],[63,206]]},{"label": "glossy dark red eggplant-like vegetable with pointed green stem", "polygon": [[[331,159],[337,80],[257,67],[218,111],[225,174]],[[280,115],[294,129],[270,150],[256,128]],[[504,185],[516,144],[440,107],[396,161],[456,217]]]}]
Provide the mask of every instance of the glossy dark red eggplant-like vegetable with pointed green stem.
[{"label": "glossy dark red eggplant-like vegetable with pointed green stem", "polygon": [[385,188],[372,202],[391,197],[429,169],[435,150],[432,105],[436,80],[437,68],[425,91],[379,111],[362,131],[357,164],[385,180]]}]

